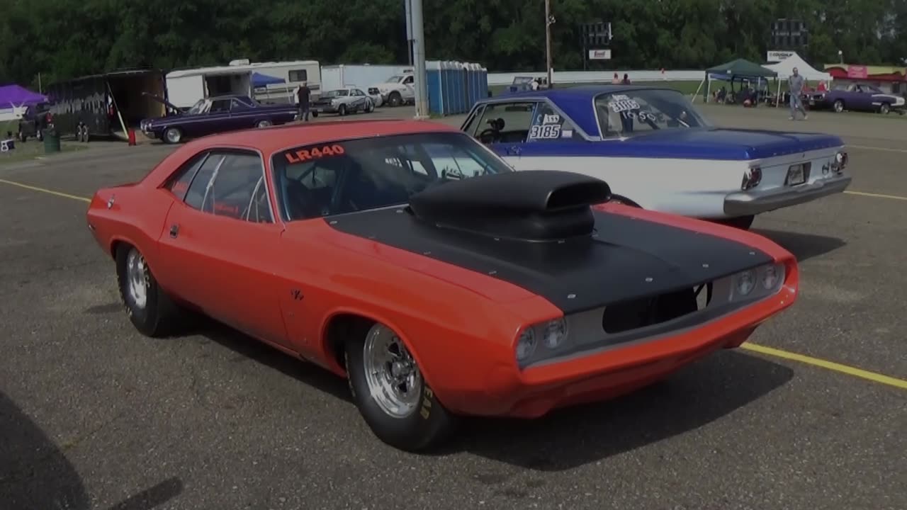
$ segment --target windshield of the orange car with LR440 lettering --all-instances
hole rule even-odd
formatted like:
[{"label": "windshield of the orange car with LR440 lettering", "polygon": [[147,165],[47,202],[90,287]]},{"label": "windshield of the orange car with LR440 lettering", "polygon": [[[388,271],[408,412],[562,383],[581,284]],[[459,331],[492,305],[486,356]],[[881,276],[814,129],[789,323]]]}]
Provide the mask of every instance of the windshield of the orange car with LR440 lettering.
[{"label": "windshield of the orange car with LR440 lettering", "polygon": [[278,152],[272,160],[287,221],[403,204],[446,181],[512,172],[461,132],[426,132],[324,142]]}]

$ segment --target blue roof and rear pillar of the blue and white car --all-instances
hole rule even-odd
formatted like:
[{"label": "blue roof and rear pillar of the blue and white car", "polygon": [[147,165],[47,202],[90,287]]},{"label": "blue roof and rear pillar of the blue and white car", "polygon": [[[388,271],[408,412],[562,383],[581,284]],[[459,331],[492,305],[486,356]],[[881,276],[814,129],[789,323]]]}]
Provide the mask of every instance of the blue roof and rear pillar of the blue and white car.
[{"label": "blue roof and rear pillar of the blue and white car", "polygon": [[600,136],[599,124],[595,118],[592,103],[595,97],[603,93],[621,93],[636,90],[675,90],[658,84],[591,84],[575,87],[541,89],[517,93],[503,93],[499,96],[483,98],[479,103],[494,103],[512,100],[548,99],[566,113],[571,121],[590,136]]}]

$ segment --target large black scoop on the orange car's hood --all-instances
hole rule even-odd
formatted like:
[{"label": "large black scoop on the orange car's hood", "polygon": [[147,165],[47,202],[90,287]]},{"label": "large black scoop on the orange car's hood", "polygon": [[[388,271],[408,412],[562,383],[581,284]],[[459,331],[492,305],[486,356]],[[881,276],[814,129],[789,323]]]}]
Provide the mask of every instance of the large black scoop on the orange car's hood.
[{"label": "large black scoop on the orange car's hood", "polygon": [[610,196],[607,182],[580,173],[507,172],[429,188],[413,195],[408,209],[438,229],[549,241],[590,236],[590,206]]}]

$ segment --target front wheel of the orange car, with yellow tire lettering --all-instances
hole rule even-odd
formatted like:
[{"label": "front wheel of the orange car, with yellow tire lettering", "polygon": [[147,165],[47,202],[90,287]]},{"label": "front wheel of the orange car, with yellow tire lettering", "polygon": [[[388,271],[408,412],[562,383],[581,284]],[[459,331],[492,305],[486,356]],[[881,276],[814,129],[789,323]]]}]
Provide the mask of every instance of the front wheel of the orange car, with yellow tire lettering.
[{"label": "front wheel of the orange car, with yellow tire lettering", "polygon": [[415,452],[450,434],[453,415],[392,329],[380,323],[354,329],[346,339],[345,358],[356,407],[385,444]]}]

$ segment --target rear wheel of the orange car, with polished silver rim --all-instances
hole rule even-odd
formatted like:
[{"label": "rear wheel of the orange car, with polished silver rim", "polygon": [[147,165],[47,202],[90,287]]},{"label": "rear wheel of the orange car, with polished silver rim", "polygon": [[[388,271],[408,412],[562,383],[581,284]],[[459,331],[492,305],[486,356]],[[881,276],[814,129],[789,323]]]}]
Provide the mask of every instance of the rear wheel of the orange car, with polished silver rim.
[{"label": "rear wheel of the orange car, with polished silver rim", "polygon": [[158,286],[140,250],[128,244],[117,249],[116,276],[120,299],[135,329],[152,338],[175,329],[180,309]]}]

